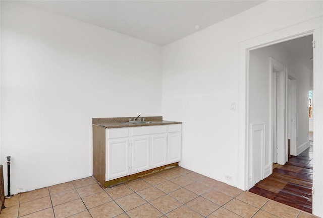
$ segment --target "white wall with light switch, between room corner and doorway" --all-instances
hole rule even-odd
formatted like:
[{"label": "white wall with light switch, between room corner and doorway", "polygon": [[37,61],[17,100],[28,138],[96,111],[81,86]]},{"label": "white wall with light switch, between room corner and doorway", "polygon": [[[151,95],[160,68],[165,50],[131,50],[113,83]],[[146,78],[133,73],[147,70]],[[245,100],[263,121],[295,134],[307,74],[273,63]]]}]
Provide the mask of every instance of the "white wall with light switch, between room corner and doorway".
[{"label": "white wall with light switch, between room corner and doorway", "polygon": [[163,115],[183,121],[181,166],[238,186],[239,43],[321,16],[321,4],[268,1],[163,47]]}]

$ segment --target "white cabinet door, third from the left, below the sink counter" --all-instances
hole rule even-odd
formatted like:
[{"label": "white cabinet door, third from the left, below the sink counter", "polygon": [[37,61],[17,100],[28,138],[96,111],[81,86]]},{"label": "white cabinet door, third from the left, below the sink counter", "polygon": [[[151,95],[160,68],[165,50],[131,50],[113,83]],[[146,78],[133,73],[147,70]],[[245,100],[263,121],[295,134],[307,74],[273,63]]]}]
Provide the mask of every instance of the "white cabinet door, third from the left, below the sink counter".
[{"label": "white cabinet door, third from the left, below the sink counter", "polygon": [[167,135],[151,137],[151,165],[155,168],[167,164]]}]

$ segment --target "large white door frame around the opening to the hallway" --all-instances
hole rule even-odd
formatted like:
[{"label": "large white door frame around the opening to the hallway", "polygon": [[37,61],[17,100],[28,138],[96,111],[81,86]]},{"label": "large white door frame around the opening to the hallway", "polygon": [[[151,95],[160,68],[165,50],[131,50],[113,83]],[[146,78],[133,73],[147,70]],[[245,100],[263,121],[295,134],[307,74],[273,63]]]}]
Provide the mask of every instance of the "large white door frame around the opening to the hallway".
[{"label": "large white door frame around the opening to the hallway", "polygon": [[[300,24],[296,24],[281,30],[273,31],[271,33],[258,36],[239,44],[240,50],[240,65],[239,65],[239,157],[238,157],[238,187],[243,190],[248,190],[253,187],[252,184],[252,156],[250,153],[251,147],[249,143],[249,61],[250,51],[264,46],[285,42],[287,40],[296,39],[302,36],[313,35],[315,49],[313,50],[313,86],[316,95],[315,101],[315,123],[313,138],[315,143],[323,143],[323,135],[319,134],[323,130],[323,99],[317,98],[317,94],[323,93],[323,29],[321,28],[320,18],[315,18]],[[268,78],[269,79],[269,78]],[[298,78],[297,78],[298,79]],[[307,99],[307,97],[306,97]],[[299,114],[299,111],[297,112]],[[308,118],[307,118],[308,121]],[[307,136],[308,138],[308,136]],[[297,141],[299,144],[299,141]],[[320,158],[323,153],[322,147],[314,147],[313,157],[315,165],[313,169],[313,214],[323,214],[321,207],[323,199],[323,188],[321,186],[323,176],[321,174],[323,169],[323,159]]]}]

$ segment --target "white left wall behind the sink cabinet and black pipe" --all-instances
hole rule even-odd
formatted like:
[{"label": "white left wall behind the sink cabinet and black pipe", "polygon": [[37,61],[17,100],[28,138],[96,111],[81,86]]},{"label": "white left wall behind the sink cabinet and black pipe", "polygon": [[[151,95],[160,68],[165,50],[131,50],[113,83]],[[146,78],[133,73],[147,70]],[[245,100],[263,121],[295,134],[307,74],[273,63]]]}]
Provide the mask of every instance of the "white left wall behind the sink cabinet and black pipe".
[{"label": "white left wall behind the sink cabinet and black pipe", "polygon": [[1,33],[13,194],[91,176],[91,118],[161,114],[159,46],[10,1]]}]

